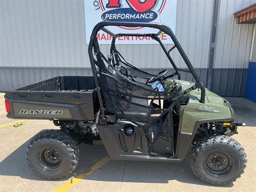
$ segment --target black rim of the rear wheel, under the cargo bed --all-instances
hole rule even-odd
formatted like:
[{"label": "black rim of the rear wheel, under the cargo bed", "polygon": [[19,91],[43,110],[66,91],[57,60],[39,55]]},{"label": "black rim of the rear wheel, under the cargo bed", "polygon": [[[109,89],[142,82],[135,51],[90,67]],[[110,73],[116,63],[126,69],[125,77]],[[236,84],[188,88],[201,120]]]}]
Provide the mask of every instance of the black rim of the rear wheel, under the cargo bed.
[{"label": "black rim of the rear wheel, under the cargo bed", "polygon": [[53,171],[60,167],[62,156],[60,151],[53,147],[46,147],[39,150],[37,156],[38,165],[45,171]]}]

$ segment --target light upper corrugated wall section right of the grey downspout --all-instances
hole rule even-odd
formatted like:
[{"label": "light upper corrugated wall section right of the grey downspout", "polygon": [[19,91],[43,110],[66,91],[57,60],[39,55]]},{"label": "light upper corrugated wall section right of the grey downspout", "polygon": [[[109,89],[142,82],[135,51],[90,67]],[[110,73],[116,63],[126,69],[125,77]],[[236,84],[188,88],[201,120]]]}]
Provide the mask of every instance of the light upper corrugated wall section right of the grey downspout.
[{"label": "light upper corrugated wall section right of the grey downspout", "polygon": [[237,24],[234,12],[253,3],[220,0],[214,68],[247,68],[253,24]]}]

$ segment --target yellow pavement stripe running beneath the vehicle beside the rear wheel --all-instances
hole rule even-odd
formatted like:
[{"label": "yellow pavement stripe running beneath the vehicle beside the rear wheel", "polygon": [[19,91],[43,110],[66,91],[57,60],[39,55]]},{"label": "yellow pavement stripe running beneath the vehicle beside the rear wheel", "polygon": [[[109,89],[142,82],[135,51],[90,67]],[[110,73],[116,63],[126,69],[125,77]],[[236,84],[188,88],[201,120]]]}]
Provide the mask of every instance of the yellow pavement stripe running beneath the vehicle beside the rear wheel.
[{"label": "yellow pavement stripe running beneath the vehicle beside the rear wheel", "polygon": [[57,189],[54,189],[53,192],[62,192],[62,191],[67,191],[69,188],[73,187],[74,185],[76,185],[76,183],[78,183],[79,181],[81,181],[83,178],[87,177],[88,175],[90,175],[93,171],[99,169],[102,165],[104,165],[105,163],[107,163],[109,161],[109,156],[106,156],[104,158],[102,158],[100,161],[98,161],[97,163],[95,163],[94,165],[92,165],[89,169],[87,169],[85,172],[83,172],[82,174],[77,175],[76,177],[73,177],[71,179],[69,179],[68,181],[66,181],[65,183],[63,183],[60,187],[58,187]]}]

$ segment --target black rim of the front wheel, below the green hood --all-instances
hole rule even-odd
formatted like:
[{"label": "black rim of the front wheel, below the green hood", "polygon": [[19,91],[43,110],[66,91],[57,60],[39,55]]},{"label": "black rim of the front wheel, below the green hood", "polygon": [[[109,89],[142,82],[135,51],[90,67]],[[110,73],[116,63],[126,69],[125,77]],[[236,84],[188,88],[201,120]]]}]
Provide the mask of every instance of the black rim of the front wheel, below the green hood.
[{"label": "black rim of the front wheel, below the green hood", "polygon": [[214,177],[224,177],[233,170],[233,158],[226,153],[212,153],[205,158],[206,171]]}]

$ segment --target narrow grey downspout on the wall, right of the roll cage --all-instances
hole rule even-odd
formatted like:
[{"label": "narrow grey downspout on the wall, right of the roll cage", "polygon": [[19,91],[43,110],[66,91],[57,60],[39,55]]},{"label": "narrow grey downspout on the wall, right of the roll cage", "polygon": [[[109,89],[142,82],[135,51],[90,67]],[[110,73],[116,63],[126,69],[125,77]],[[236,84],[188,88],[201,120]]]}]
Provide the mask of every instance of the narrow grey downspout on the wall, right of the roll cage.
[{"label": "narrow grey downspout on the wall, right of the roll cage", "polygon": [[212,78],[213,78],[213,64],[214,64],[214,52],[216,45],[216,36],[217,36],[217,23],[219,16],[219,6],[220,1],[214,0],[213,2],[213,12],[212,12],[212,27],[211,27],[211,41],[210,41],[210,50],[209,50],[209,58],[208,58],[208,71],[206,78],[206,87],[207,89],[212,89]]}]

